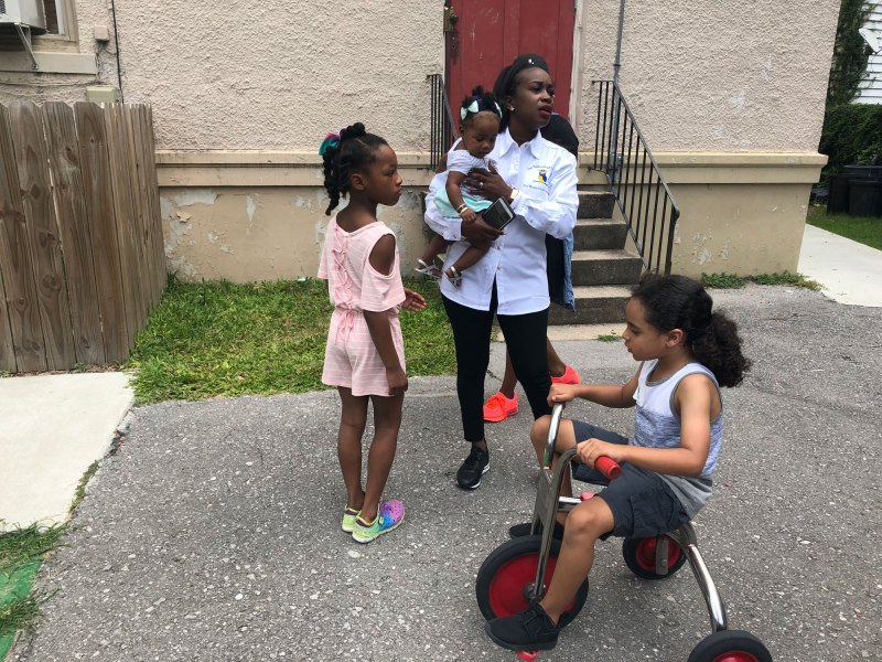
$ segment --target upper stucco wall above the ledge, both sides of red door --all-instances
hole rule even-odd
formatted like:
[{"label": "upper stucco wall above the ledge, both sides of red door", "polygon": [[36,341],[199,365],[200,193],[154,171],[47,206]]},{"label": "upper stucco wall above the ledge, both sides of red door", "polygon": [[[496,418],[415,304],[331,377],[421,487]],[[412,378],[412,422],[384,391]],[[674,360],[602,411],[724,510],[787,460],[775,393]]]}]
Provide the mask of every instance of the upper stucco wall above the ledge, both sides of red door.
[{"label": "upper stucco wall above the ledge, both sides of red door", "polygon": [[[815,151],[838,4],[627,2],[621,84],[652,148]],[[73,46],[95,54],[97,73],[0,73],[0,100],[73,102],[87,84],[118,84],[107,4],[76,0],[76,8]],[[153,106],[160,149],[311,149],[324,131],[362,119],[397,149],[424,150],[426,77],[444,66],[441,10],[437,0],[275,0],[236,11],[118,2],[125,98]],[[585,147],[591,81],[612,76],[617,17],[619,0],[579,7],[573,97]],[[109,43],[94,40],[95,25],[110,29]]]}]

